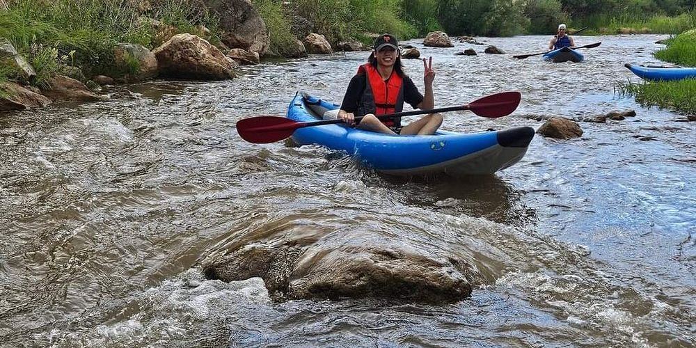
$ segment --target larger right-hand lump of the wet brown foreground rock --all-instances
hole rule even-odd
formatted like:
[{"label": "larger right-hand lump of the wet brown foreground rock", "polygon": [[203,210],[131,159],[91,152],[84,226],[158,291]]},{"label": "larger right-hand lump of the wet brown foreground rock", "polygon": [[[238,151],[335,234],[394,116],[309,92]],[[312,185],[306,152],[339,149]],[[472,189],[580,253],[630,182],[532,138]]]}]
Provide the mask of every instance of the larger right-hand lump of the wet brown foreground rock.
[{"label": "larger right-hand lump of the wet brown foreground rock", "polygon": [[471,294],[470,283],[450,261],[403,248],[314,250],[298,261],[287,290],[295,299],[382,297],[438,303]]}]

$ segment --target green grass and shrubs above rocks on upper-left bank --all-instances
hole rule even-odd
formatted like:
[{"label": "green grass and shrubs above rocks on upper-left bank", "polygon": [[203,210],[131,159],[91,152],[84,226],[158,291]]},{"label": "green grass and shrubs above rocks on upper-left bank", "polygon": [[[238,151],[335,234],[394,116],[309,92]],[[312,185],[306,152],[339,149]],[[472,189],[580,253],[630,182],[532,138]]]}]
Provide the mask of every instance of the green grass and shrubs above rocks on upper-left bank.
[{"label": "green grass and shrubs above rocks on upper-left bank", "polygon": [[[57,73],[78,79],[75,74],[118,75],[113,71],[114,45],[130,42],[152,49],[161,44],[160,23],[179,33],[200,33],[205,26],[209,40],[219,40],[217,19],[189,1],[10,0],[2,4],[6,9],[0,9],[0,38],[33,66],[36,77],[22,82],[35,86]],[[22,76],[8,67],[8,58],[0,64],[0,81],[21,81]],[[125,67],[124,73],[133,68]]]}]

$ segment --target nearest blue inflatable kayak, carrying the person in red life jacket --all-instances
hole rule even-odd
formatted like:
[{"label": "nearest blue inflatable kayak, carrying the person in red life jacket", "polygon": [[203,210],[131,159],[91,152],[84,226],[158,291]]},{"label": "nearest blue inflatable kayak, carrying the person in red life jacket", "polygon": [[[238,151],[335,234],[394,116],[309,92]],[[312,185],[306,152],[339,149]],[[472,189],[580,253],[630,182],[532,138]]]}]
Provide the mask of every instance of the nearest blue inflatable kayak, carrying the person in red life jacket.
[{"label": "nearest blue inflatable kayak, carrying the person in red life jacket", "polygon": [[[317,121],[326,111],[336,109],[335,104],[297,93],[287,109],[287,118]],[[399,136],[333,124],[297,129],[292,140],[298,145],[319,144],[345,151],[363,164],[391,175],[444,173],[462,177],[491,174],[516,164],[527,152],[534,134],[532,127],[516,127],[473,134],[441,131],[432,136]]]}]

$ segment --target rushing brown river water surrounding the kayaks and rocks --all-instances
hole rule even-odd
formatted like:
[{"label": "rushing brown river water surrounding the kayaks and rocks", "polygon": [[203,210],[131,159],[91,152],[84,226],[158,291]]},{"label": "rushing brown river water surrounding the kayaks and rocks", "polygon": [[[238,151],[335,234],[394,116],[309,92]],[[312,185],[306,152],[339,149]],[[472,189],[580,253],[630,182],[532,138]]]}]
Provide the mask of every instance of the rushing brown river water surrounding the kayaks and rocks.
[{"label": "rushing brown river water surrounding the kayaks and rocks", "polygon": [[[402,180],[316,146],[246,143],[235,122],[283,115],[297,90],[340,102],[367,52],[244,68],[231,81],[158,81],[109,102],[0,116],[2,347],[693,347],[696,127],[615,94],[624,63],[664,36],[578,37],[585,63],[544,63],[548,37],[422,47],[436,107],[520,90],[512,116],[445,115],[473,132],[634,109],[535,137],[492,177]],[[474,47],[478,56],[455,56]],[[422,62],[404,61],[422,90]],[[408,239],[473,260],[470,299],[270,301],[262,280],[205,280],[239,242],[342,233]]]}]

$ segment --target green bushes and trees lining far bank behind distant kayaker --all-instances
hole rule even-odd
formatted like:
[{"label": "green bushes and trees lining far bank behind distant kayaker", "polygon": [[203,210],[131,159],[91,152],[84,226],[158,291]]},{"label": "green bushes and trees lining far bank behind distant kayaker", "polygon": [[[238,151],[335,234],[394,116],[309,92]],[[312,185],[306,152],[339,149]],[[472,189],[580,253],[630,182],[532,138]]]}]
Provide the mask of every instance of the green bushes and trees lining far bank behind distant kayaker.
[{"label": "green bushes and trees lining far bank behind distant kayaker", "polygon": [[[441,30],[449,35],[509,36],[554,33],[559,23],[585,33],[672,33],[696,27],[689,0],[253,0],[271,31],[271,45],[287,45],[310,26],[329,42],[365,33],[399,38]],[[299,30],[298,30],[299,29]]]}]

